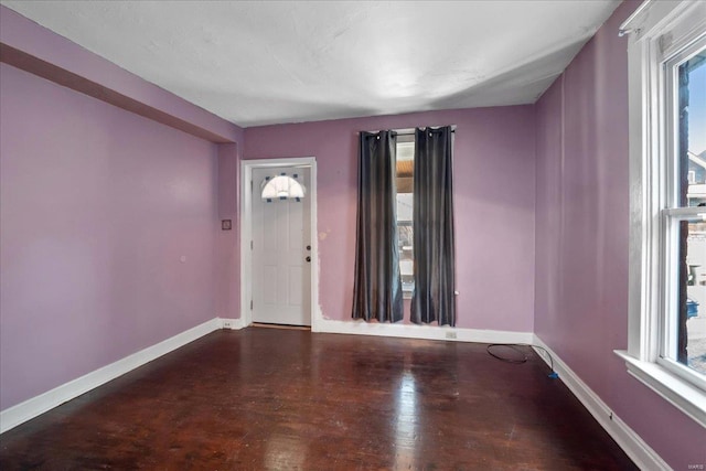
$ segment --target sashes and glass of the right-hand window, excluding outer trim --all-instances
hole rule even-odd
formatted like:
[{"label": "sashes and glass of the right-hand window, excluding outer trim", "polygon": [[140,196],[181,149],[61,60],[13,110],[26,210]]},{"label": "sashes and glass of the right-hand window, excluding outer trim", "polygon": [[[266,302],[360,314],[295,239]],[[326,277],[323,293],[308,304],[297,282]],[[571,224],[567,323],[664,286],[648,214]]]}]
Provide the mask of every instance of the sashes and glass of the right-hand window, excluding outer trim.
[{"label": "sashes and glass of the right-hand window, excluding outer trim", "polygon": [[[665,297],[659,361],[706,390],[706,36],[664,61]],[[694,182],[688,174],[694,172]],[[706,327],[706,325],[704,325]]]}]

